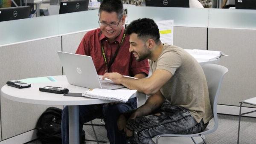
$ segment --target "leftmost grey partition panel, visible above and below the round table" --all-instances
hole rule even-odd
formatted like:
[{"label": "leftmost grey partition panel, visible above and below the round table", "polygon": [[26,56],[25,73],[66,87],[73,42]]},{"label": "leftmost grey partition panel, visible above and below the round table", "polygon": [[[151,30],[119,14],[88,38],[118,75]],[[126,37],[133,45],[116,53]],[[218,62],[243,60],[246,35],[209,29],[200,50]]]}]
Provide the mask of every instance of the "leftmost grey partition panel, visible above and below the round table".
[{"label": "leftmost grey partition panel, visible above and below the round table", "polygon": [[[57,51],[61,37],[0,47],[0,87],[9,80],[61,75]],[[24,104],[1,97],[2,139],[35,129],[41,113],[50,106]]]}]

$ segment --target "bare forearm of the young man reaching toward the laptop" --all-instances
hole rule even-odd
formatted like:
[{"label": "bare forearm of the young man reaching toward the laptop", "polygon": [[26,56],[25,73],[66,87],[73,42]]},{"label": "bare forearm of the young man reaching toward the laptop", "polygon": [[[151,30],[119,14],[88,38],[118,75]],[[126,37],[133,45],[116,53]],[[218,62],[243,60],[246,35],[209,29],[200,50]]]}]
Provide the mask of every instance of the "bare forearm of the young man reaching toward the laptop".
[{"label": "bare forearm of the young man reaching toward the laptop", "polygon": [[157,69],[149,78],[126,78],[116,72],[106,73],[102,78],[109,78],[116,84],[122,84],[129,89],[137,89],[139,92],[153,95],[172,78],[172,74],[167,70]]}]

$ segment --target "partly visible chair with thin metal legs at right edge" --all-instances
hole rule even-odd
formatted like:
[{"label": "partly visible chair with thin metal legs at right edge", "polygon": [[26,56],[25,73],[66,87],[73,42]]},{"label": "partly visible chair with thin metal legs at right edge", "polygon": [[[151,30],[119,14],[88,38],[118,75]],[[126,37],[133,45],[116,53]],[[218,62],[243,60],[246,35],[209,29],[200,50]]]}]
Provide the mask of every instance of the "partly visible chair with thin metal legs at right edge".
[{"label": "partly visible chair with thin metal legs at right edge", "polygon": [[239,123],[238,123],[237,144],[239,144],[239,132],[240,132],[241,115],[246,115],[246,114],[249,114],[249,113],[252,113],[252,112],[256,112],[256,110],[253,110],[253,111],[250,111],[250,112],[241,113],[242,104],[250,104],[250,105],[256,106],[256,97],[254,97],[254,98],[249,98],[249,99],[244,100],[244,101],[240,101],[239,103],[240,103],[240,111],[239,111]]}]

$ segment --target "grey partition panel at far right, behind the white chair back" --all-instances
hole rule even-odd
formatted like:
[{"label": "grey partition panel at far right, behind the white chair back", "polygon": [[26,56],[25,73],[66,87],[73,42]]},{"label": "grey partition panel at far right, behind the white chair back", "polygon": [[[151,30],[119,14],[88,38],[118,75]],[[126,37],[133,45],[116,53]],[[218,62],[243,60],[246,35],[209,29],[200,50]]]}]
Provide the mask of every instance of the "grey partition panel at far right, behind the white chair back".
[{"label": "grey partition panel at far right, behind the white chair back", "polygon": [[218,104],[239,106],[239,101],[256,96],[256,29],[209,28],[208,49],[229,55],[220,65],[225,75]]}]

